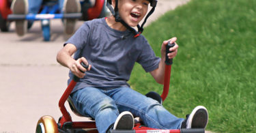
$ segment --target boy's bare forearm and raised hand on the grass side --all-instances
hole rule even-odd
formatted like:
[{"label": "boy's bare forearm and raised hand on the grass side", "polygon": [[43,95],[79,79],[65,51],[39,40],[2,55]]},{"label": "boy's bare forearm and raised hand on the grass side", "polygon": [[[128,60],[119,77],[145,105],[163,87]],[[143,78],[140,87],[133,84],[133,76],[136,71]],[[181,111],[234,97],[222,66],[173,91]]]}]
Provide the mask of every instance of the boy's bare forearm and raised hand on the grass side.
[{"label": "boy's bare forearm and raised hand on the grass side", "polygon": [[[150,74],[154,77],[157,83],[164,84],[165,80],[165,46],[168,44],[169,41],[171,42],[171,44],[173,44],[176,42],[176,40],[177,38],[171,38],[167,41],[162,42],[160,63],[156,70],[150,72]],[[169,59],[172,59],[177,55],[177,48],[179,48],[179,46],[175,43],[175,46],[169,49],[170,51],[173,51],[172,53],[168,53]]]}]

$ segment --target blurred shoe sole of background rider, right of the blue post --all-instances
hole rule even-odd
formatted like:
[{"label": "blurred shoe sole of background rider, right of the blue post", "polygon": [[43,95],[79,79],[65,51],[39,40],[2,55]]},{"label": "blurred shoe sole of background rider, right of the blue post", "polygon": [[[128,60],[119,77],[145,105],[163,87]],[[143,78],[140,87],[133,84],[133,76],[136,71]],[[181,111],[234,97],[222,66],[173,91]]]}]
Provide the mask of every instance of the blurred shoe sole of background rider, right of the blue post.
[{"label": "blurred shoe sole of background rider, right of the blue post", "polygon": [[[63,13],[79,13],[81,4],[79,0],[65,0],[63,3]],[[77,19],[64,19],[64,33],[71,35],[74,33]]]}]

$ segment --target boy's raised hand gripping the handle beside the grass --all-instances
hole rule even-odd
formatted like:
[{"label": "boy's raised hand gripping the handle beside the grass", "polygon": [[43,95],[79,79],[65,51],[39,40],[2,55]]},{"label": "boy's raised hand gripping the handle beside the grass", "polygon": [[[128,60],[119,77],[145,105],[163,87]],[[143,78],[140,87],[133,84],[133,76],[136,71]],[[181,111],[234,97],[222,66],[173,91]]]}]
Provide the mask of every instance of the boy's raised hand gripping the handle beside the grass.
[{"label": "boy's raised hand gripping the handle beside the grass", "polygon": [[177,38],[171,38],[169,40],[166,40],[166,41],[162,42],[162,48],[161,48],[161,55],[162,55],[163,61],[165,61],[165,51],[166,51],[165,46],[168,44],[169,41],[171,44],[175,43],[175,46],[173,46],[172,48],[169,49],[170,51],[173,51],[173,52],[168,53],[168,58],[172,59],[177,55],[177,48],[179,48],[179,46],[176,44]]}]

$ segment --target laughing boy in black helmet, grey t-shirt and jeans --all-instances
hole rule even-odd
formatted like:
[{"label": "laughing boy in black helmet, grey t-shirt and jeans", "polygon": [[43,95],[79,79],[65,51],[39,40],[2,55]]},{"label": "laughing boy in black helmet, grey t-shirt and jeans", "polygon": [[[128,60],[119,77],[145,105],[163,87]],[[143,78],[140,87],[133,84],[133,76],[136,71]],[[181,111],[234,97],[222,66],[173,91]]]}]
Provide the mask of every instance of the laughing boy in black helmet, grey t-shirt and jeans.
[{"label": "laughing boy in black helmet, grey t-shirt and jeans", "polygon": [[[162,57],[158,58],[143,35],[131,28],[147,14],[149,4],[154,11],[157,1],[108,2],[115,7],[113,10],[108,5],[113,15],[85,22],[57,54],[57,61],[70,69],[70,79],[74,75],[81,78],[71,93],[79,113],[94,118],[100,133],[111,129],[131,130],[132,115],[140,117],[150,128],[205,128],[208,123],[205,107],[197,106],[187,119],[177,118],[156,100],[130,89],[127,83],[135,61],[156,82],[164,83],[165,46],[169,41],[175,43],[177,38],[162,42]],[[138,29],[143,31],[142,27]],[[169,49],[173,51],[168,54],[170,59],[177,55],[177,48],[175,43]],[[81,62],[89,64],[89,68],[85,70]]]}]

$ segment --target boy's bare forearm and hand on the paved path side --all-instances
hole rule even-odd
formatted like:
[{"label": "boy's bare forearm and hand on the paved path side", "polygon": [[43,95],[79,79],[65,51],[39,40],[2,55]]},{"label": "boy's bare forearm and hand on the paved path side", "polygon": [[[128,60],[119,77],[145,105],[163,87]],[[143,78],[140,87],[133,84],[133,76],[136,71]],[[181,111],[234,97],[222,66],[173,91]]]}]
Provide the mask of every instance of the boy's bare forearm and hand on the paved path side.
[{"label": "boy's bare forearm and hand on the paved path side", "polygon": [[[76,46],[74,46],[74,44],[66,44],[61,50],[59,50],[59,52],[57,53],[57,61],[70,69],[70,71],[78,76],[79,78],[83,78],[83,76],[85,76],[85,73],[87,70],[85,68],[83,68],[83,66],[81,65],[81,62],[85,63],[86,65],[88,65],[87,60],[85,59],[85,57],[81,57],[77,60],[74,60],[72,58],[72,55],[76,52]],[[91,65],[89,65],[88,71],[91,69]],[[81,72],[80,70],[82,70],[83,72]]]}]

